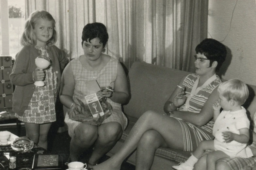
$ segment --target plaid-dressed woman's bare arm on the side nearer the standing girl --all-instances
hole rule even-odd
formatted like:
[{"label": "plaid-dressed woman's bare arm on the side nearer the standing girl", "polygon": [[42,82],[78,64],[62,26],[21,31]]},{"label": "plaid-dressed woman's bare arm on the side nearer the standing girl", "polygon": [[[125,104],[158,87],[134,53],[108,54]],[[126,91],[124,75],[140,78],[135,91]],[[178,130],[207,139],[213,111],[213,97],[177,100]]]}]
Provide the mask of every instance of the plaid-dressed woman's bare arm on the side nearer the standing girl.
[{"label": "plaid-dressed woman's bare arm on the side nearer the standing girl", "polygon": [[63,70],[61,76],[61,85],[59,92],[59,99],[61,103],[68,109],[71,108],[72,104],[75,103],[73,100],[73,93],[75,89],[75,80],[72,71],[71,63]]}]

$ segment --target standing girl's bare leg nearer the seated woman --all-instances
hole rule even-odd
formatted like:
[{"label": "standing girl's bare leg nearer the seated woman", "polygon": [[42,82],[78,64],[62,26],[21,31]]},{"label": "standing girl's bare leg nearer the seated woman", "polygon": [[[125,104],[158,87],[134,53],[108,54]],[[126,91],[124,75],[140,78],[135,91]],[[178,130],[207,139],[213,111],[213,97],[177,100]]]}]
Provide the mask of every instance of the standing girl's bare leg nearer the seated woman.
[{"label": "standing girl's bare leg nearer the seated woman", "polygon": [[52,123],[44,123],[40,124],[40,135],[39,135],[39,142],[38,146],[47,150],[47,138],[48,132],[51,128]]}]

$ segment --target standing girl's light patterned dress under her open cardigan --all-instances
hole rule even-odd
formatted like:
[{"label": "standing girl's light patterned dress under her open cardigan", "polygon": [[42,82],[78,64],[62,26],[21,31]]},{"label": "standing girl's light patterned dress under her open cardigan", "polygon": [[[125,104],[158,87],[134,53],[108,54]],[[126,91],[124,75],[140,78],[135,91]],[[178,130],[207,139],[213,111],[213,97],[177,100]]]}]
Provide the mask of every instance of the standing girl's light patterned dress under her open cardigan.
[{"label": "standing girl's light patterned dress under her open cardigan", "polygon": [[[35,48],[39,50],[39,54],[50,58],[46,50],[47,47],[35,46]],[[51,65],[44,72],[45,79],[43,82],[45,85],[43,87],[35,86],[33,96],[22,116],[15,114],[20,121],[37,124],[56,121],[57,76]]]}]

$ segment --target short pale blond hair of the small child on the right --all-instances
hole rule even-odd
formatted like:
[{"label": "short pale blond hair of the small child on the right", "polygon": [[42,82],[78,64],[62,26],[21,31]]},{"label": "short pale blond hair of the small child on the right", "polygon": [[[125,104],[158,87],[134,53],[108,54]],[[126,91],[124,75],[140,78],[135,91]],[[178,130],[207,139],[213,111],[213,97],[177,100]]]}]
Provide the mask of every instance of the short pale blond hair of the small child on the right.
[{"label": "short pale blond hair of the small child on the right", "polygon": [[249,96],[247,85],[238,79],[231,79],[221,83],[218,87],[218,93],[228,101],[233,99],[240,105],[244,104]]}]

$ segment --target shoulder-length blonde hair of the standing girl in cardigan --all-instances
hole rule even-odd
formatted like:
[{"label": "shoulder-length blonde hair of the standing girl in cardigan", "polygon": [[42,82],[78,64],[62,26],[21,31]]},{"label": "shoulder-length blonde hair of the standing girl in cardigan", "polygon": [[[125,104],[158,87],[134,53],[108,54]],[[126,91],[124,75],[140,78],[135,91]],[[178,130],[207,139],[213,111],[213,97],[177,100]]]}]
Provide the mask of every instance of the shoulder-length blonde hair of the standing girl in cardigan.
[{"label": "shoulder-length blonde hair of the standing girl in cardigan", "polygon": [[55,30],[55,20],[54,20],[54,18],[47,11],[44,11],[44,10],[38,11],[38,10],[36,10],[36,11],[32,12],[30,14],[29,18],[26,20],[24,32],[23,32],[22,38],[21,38],[21,44],[23,46],[36,45],[37,44],[37,39],[36,39],[36,36],[35,36],[35,33],[34,33],[33,29],[35,28],[36,21],[40,18],[53,22],[53,36],[52,36],[51,39],[49,39],[46,42],[46,45],[47,46],[53,46],[56,43],[56,41],[57,41],[57,32]]}]

